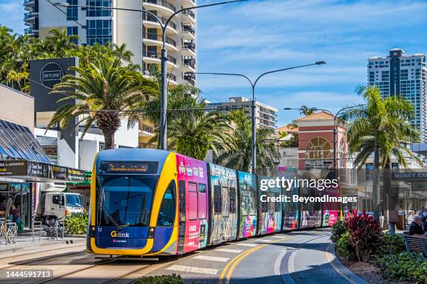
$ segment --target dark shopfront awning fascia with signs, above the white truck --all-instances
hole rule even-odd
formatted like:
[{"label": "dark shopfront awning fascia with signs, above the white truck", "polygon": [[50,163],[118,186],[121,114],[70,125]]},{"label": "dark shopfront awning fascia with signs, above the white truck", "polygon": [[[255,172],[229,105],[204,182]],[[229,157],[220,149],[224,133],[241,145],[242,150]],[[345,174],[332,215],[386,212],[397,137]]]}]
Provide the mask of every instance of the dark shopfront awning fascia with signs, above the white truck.
[{"label": "dark shopfront awning fascia with signs, above the white truck", "polygon": [[40,161],[0,161],[0,178],[19,178],[27,182],[84,182],[84,171]]}]

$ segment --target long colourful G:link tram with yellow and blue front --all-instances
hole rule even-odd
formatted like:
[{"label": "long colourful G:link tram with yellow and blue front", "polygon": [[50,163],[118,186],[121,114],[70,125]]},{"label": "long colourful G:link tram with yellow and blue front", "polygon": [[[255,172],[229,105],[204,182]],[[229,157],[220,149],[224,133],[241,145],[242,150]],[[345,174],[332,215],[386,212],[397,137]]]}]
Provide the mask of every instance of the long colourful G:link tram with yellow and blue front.
[{"label": "long colourful G:link tram with yellow and blue front", "polygon": [[[98,255],[181,255],[234,239],[331,226],[339,216],[338,205],[261,202],[262,194],[290,196],[299,189],[260,191],[260,179],[268,177],[165,150],[101,151],[92,173],[87,251]],[[305,190],[301,194],[313,194]]]}]

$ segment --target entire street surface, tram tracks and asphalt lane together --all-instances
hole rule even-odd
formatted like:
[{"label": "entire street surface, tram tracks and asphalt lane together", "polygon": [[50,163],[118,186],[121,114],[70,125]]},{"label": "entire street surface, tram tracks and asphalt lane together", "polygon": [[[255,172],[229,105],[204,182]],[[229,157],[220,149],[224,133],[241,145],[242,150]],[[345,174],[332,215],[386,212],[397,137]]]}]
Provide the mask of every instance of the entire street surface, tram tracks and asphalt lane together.
[{"label": "entire street surface, tram tracks and asphalt lane together", "polygon": [[0,256],[0,275],[16,269],[53,269],[53,278],[5,279],[0,283],[131,283],[147,275],[180,274],[186,283],[363,283],[335,260],[329,229],[267,235],[158,262],[99,260],[84,244]]}]

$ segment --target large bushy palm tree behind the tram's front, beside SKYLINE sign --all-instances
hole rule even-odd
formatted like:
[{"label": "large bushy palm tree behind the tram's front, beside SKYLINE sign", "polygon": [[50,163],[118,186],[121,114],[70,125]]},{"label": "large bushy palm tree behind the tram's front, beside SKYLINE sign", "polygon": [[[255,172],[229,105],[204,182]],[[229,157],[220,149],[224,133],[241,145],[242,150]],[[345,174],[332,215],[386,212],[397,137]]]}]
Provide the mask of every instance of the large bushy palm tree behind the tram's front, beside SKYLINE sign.
[{"label": "large bushy palm tree behind the tram's front, beside SKYLINE sign", "polygon": [[121,61],[110,57],[99,58],[87,68],[72,67],[77,76],[66,75],[51,93],[64,94],[58,102],[69,104],[59,107],[47,129],[59,123],[65,128],[78,119],[84,123],[83,136],[96,123],[103,132],[105,148],[114,148],[114,134],[121,125],[121,118],[128,116],[128,110],[137,102],[147,98],[142,86],[147,84],[138,72],[121,66]]}]

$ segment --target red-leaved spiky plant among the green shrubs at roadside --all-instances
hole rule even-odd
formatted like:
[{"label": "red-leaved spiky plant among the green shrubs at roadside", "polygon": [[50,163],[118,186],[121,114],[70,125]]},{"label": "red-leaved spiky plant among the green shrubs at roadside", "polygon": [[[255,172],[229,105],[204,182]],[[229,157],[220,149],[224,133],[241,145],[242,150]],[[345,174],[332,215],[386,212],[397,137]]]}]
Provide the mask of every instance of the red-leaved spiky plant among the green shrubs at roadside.
[{"label": "red-leaved spiky plant among the green shrubs at roadside", "polygon": [[369,262],[370,253],[382,242],[377,220],[365,211],[357,214],[357,210],[350,210],[345,216],[344,226],[350,232],[350,242],[359,261]]}]

